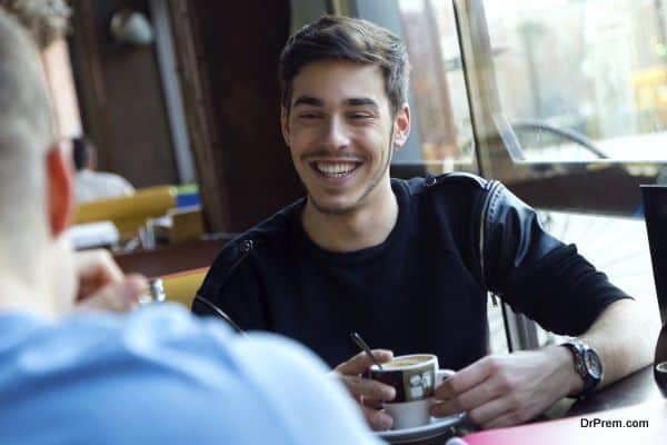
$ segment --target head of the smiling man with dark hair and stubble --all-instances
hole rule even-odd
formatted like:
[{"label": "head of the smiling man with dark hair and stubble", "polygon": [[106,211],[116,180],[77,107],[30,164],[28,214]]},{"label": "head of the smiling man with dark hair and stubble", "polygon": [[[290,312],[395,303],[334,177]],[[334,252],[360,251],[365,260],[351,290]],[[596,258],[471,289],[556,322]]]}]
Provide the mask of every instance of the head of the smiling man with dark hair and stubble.
[{"label": "head of the smiling man with dark hair and stubble", "polygon": [[282,135],[308,191],[306,211],[387,208],[391,156],[410,130],[400,39],[364,20],[323,17],[288,40],[280,81]]}]

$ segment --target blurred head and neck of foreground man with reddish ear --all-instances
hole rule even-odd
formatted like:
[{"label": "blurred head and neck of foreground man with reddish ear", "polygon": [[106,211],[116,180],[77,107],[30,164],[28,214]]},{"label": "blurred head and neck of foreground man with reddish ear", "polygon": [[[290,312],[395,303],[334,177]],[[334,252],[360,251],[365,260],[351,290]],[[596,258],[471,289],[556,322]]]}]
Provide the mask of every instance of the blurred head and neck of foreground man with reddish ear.
[{"label": "blurred head and neck of foreground man with reddish ear", "polygon": [[69,152],[58,145],[39,53],[0,9],[0,271],[52,295],[73,294],[63,241],[71,211]]}]

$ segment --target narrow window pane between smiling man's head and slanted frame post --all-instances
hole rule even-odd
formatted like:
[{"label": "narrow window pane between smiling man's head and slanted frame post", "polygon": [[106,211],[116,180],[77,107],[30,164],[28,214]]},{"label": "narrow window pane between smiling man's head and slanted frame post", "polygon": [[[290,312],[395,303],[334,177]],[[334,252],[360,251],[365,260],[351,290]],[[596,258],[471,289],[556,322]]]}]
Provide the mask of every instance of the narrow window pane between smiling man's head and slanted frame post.
[{"label": "narrow window pane between smiling man's head and slanted frame post", "polygon": [[430,171],[474,161],[472,129],[451,1],[397,0],[411,71],[421,161]]}]

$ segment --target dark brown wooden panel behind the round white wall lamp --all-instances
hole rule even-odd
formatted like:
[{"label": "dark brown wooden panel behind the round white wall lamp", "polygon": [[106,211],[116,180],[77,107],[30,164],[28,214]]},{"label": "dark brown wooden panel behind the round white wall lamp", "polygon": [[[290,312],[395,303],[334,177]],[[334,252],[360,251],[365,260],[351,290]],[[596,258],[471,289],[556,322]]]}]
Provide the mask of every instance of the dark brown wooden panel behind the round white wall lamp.
[{"label": "dark brown wooden panel behind the round white wall lamp", "polygon": [[109,23],[121,7],[143,12],[146,0],[73,0],[70,50],[83,127],[100,170],[136,187],[178,184],[155,43],[122,46]]}]

